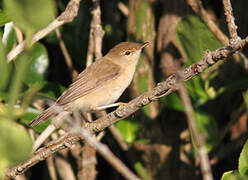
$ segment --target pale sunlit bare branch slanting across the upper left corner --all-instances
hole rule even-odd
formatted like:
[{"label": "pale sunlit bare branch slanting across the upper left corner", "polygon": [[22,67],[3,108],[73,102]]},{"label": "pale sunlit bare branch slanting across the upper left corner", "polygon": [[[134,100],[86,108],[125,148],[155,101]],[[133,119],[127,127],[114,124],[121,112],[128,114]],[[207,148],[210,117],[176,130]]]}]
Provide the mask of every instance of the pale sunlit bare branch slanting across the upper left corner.
[{"label": "pale sunlit bare branch slanting across the upper left corner", "polygon": [[[79,4],[81,0],[70,0],[67,4],[66,9],[60,16],[58,16],[55,20],[53,20],[47,27],[38,31],[32,38],[31,44],[39,41],[43,37],[45,37],[48,33],[52,32],[59,26],[62,26],[65,23],[71,22],[78,14]],[[26,41],[22,41],[18,46],[12,49],[7,55],[7,61],[10,62],[16,56],[18,56],[25,47]]]}]

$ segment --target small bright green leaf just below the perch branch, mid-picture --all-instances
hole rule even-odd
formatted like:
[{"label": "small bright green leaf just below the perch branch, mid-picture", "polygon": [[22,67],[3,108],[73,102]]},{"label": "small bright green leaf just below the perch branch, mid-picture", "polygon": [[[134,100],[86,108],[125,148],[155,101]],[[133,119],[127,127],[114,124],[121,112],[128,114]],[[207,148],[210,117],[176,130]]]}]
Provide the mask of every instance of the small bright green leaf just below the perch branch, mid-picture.
[{"label": "small bright green leaf just below the perch branch, mid-picture", "polygon": [[127,143],[132,144],[136,140],[137,133],[139,130],[139,123],[136,119],[126,118],[124,120],[119,121],[116,124],[116,128],[120,131],[124,140]]}]

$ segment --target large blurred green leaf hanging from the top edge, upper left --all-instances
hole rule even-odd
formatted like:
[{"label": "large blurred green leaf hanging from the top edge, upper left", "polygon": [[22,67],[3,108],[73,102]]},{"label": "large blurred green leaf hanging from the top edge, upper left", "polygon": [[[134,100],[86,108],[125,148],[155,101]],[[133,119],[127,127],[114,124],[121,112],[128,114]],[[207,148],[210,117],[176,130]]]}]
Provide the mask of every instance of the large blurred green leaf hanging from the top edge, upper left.
[{"label": "large blurred green leaf hanging from the top edge, upper left", "polygon": [[4,0],[4,10],[25,31],[29,40],[34,32],[46,27],[55,17],[53,0]]}]

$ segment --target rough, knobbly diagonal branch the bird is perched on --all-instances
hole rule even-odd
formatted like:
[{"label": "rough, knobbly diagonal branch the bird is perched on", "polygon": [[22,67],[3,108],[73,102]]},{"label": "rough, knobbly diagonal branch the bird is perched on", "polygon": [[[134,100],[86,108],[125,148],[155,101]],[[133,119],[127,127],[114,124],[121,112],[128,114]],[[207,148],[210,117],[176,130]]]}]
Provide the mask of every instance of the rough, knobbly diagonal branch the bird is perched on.
[{"label": "rough, knobbly diagonal branch the bird is perched on", "polygon": [[[241,50],[247,43],[248,37],[241,40],[238,45],[234,47],[224,46],[212,52],[206,51],[200,61],[180,71],[180,74],[182,74],[182,80],[187,81],[200,72],[204,71],[211,65],[215,64],[219,60],[232,56],[234,53]],[[157,86],[154,87],[151,91],[143,93],[139,97],[127,103],[125,106],[118,108],[116,111],[108,113],[106,116],[103,116],[91,123],[85,123],[84,128],[89,130],[91,133],[102,131],[106,127],[109,127],[112,124],[120,121],[121,119],[130,116],[152,101],[169,95],[171,92],[178,89],[178,86],[179,84],[177,81],[177,77],[173,74],[169,76],[167,80],[158,83]],[[52,141],[50,145],[40,148],[37,153],[35,153],[26,162],[16,167],[7,169],[6,176],[14,178],[19,174],[23,174],[28,168],[37,164],[39,161],[46,159],[53,153],[71,147],[71,145],[75,144],[77,141],[79,141],[79,139],[80,138],[77,136],[70,135],[61,137],[59,140]]]}]

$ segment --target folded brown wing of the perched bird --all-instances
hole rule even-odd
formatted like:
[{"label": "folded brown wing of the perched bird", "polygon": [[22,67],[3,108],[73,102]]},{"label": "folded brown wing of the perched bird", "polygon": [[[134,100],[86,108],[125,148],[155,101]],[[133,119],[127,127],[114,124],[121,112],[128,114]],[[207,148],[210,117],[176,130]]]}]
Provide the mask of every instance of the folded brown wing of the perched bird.
[{"label": "folded brown wing of the perched bird", "polygon": [[78,75],[75,82],[57,99],[56,103],[66,105],[87,95],[107,81],[118,77],[120,70],[119,65],[106,61],[106,59],[99,59]]}]

